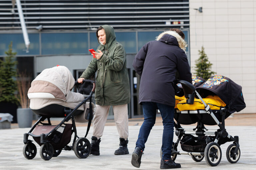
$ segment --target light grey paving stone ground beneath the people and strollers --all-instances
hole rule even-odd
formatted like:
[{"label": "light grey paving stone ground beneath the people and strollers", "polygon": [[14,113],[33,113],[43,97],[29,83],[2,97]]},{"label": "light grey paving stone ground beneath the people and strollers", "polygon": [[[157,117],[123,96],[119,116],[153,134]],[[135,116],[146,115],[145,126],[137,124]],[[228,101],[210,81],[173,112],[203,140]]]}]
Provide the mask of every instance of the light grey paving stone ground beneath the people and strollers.
[{"label": "light grey paving stone ground beneath the people and strollers", "polygon": [[[41,169],[97,169],[97,170],[136,170],[131,165],[131,154],[135,147],[135,142],[139,132],[139,126],[129,126],[129,143],[128,155],[114,155],[114,151],[119,147],[119,136],[115,126],[105,126],[104,134],[100,143],[100,156],[90,155],[86,159],[79,159],[73,151],[63,150],[58,157],[53,157],[49,161],[45,161],[40,157],[40,147],[37,146],[37,155],[34,159],[28,160],[23,156],[22,149],[23,133],[29,131],[30,128],[12,128],[0,129],[0,169],[1,170],[41,170]],[[183,128],[194,128],[193,126],[184,126]],[[206,128],[217,129],[217,126],[209,126]],[[241,157],[235,164],[231,164],[226,159],[226,149],[232,142],[221,145],[222,159],[218,166],[211,167],[207,165],[203,159],[201,162],[195,162],[188,155],[178,155],[175,162],[180,163],[181,170],[234,170],[256,169],[256,126],[226,126],[227,132],[232,135],[239,136],[239,144],[241,149]],[[86,127],[77,127],[78,135],[84,136]],[[162,144],[163,126],[154,126],[149,135],[142,155],[142,163],[139,169],[155,170],[160,169],[160,148]],[[90,129],[87,139],[90,139],[92,129]],[[32,139],[29,136],[29,139]],[[176,136],[174,135],[174,140]],[[72,139],[71,139],[72,141]],[[180,145],[178,151],[182,151]]]}]

